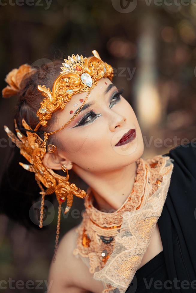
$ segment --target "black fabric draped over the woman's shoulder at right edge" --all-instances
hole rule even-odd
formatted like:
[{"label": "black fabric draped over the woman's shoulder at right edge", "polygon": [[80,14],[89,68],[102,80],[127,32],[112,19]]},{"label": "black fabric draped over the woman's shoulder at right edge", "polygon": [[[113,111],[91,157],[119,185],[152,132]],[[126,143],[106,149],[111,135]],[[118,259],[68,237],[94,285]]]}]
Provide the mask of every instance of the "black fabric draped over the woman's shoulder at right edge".
[{"label": "black fabric draped over the woman's shoulder at right edge", "polygon": [[166,155],[174,169],[158,225],[168,280],[171,292],[196,292],[196,143]]}]

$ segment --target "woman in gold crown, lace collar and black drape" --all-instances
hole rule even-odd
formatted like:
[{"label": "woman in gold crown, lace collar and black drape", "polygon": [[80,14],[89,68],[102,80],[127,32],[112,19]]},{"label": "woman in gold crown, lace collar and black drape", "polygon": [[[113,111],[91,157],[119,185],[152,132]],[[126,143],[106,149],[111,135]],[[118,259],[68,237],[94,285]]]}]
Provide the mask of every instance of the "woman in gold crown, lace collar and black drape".
[{"label": "woman in gold crown, lace collar and black drape", "polygon": [[[190,227],[195,227],[196,200],[192,191],[196,184],[195,145],[142,159],[144,144],[135,113],[121,95],[122,90],[118,91],[112,83],[110,65],[102,63],[97,51],[92,52],[95,58],[84,58],[84,62],[78,55],[68,57],[61,67],[61,75],[66,72],[63,77],[58,73],[60,62],[54,61],[55,74],[50,76],[51,73],[46,72],[41,80],[45,87],[40,85],[34,68],[23,66],[7,78],[9,87],[2,92],[4,97],[19,95],[15,123],[18,138],[22,139],[24,129],[29,136],[33,132],[42,135],[44,143],[37,141],[43,150],[39,155],[39,171],[47,172],[48,178],[56,178],[55,184],[61,187],[50,190],[52,185],[47,185],[47,180],[36,169],[36,158],[31,160],[32,152],[31,158],[25,156],[31,167],[21,165],[39,173],[36,179],[42,190],[40,220],[46,194],[55,191],[61,208],[65,190],[69,191],[65,212],[70,209],[72,193],[85,198],[82,222],[64,235],[55,251],[49,292],[125,292],[131,281],[132,286],[126,292],[136,289],[137,292],[155,292],[155,283],[147,287],[151,277],[163,283],[172,282],[171,278],[175,277],[180,278],[180,282],[193,282],[196,255],[195,237]],[[68,70],[67,61],[71,62]],[[39,91],[45,97],[43,102]],[[52,106],[48,106],[51,103]],[[9,129],[5,127],[5,130],[23,150],[22,155],[26,154],[29,150],[24,152],[24,146]],[[50,144],[47,146],[46,142]],[[37,149],[37,145],[33,145]],[[51,171],[61,169],[67,173],[72,169],[79,175],[89,186],[88,196],[77,187],[70,191],[73,186],[65,187],[69,178],[63,181]],[[186,191],[189,198],[185,198]],[[61,209],[56,248],[60,214]],[[189,292],[195,292],[194,284],[189,287]],[[175,290],[175,286],[162,286],[160,292]],[[182,285],[180,290],[178,292],[185,290]]]}]

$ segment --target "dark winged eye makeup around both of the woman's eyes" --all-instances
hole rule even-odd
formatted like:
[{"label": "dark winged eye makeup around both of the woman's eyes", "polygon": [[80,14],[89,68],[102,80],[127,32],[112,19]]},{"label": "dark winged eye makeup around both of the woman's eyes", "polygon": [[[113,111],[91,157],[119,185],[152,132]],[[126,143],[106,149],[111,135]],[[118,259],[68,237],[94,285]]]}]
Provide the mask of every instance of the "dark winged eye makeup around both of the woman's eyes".
[{"label": "dark winged eye makeup around both of the woman's eyes", "polygon": [[[116,103],[118,103],[121,100],[120,94],[122,94],[123,91],[124,91],[124,88],[121,88],[119,91],[115,91],[112,94],[109,108],[111,108],[112,106],[114,106]],[[84,116],[82,116],[82,118],[80,118],[80,120],[78,121],[78,124],[76,126],[73,126],[72,128],[81,126],[81,125],[86,125],[88,123],[92,123],[99,116],[101,116],[101,114],[96,114],[94,113],[93,109],[90,109]]]}]

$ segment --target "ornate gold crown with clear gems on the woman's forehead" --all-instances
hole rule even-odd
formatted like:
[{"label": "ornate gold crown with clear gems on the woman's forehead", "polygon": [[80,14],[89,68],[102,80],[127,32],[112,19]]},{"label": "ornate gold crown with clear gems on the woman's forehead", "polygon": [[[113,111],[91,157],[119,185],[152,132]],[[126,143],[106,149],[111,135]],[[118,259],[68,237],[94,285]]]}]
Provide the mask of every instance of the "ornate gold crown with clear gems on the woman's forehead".
[{"label": "ornate gold crown with clear gems on the woman's forehead", "polygon": [[41,125],[46,126],[53,112],[58,109],[63,110],[73,94],[89,91],[102,77],[112,80],[114,71],[111,65],[103,62],[96,50],[92,53],[94,56],[88,58],[72,54],[72,57],[68,56],[68,59],[64,59],[61,74],[55,79],[52,91],[46,86],[37,86],[45,97],[37,111]]}]

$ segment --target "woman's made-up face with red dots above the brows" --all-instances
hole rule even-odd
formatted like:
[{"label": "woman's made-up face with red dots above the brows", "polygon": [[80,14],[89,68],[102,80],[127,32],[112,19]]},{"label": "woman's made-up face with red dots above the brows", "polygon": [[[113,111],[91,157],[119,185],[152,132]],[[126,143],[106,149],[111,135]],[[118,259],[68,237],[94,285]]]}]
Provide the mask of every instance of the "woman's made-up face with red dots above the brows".
[{"label": "woman's made-up face with red dots above the brows", "polygon": [[[64,110],[59,111],[54,130],[73,117],[86,95],[87,92],[72,96]],[[136,132],[133,141],[115,146],[130,129]],[[79,114],[56,136],[63,146],[58,151],[73,162],[73,170],[76,164],[86,171],[108,172],[132,164],[144,151],[135,113],[108,78],[98,81]]]}]

